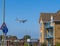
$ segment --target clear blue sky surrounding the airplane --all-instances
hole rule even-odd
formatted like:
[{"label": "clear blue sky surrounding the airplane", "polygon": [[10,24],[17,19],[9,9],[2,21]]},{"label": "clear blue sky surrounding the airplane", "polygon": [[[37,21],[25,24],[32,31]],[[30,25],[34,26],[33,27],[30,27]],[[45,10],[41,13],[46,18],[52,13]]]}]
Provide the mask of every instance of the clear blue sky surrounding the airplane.
[{"label": "clear blue sky surrounding the airplane", "polygon": [[[33,39],[40,37],[40,13],[55,13],[60,10],[59,0],[6,0],[5,22],[8,27],[7,35],[23,38],[30,35]],[[27,19],[19,23],[16,18]],[[0,27],[2,25],[2,0],[0,0]],[[2,35],[2,30],[0,30]]]}]

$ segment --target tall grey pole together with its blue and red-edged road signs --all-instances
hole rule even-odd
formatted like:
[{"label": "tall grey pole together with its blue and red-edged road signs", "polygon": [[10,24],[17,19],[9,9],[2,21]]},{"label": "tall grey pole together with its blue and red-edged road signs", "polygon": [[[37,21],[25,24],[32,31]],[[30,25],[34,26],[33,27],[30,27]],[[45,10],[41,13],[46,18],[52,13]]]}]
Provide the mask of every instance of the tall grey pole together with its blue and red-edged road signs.
[{"label": "tall grey pole together with its blue and red-edged road signs", "polygon": [[8,28],[5,24],[5,0],[2,0],[2,26],[1,26],[1,30],[3,32],[3,35],[2,35],[2,46],[5,46],[4,44],[6,44],[5,40],[6,40],[6,34],[8,32]]}]

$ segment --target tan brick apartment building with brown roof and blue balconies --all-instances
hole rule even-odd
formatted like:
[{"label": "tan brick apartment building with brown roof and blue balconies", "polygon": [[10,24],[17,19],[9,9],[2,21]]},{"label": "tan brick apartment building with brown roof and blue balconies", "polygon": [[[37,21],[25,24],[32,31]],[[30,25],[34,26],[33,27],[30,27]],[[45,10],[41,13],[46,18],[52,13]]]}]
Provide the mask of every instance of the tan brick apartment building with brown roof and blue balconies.
[{"label": "tan brick apartment building with brown roof and blue balconies", "polygon": [[40,43],[47,46],[60,43],[60,10],[56,13],[41,13],[39,24]]}]

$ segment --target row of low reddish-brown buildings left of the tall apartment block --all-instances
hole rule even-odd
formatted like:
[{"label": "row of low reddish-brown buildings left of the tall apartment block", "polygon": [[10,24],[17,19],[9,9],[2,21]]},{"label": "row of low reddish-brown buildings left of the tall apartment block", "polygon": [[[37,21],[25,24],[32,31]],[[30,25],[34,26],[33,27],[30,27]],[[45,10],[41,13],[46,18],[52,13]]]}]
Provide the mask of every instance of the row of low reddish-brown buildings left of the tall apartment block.
[{"label": "row of low reddish-brown buildings left of the tall apartment block", "polygon": [[[6,36],[4,46],[24,46],[27,43],[30,46],[39,46],[38,39],[30,39],[29,42],[25,39],[18,39],[16,36]],[[2,35],[0,36],[0,45],[2,45]]]}]

